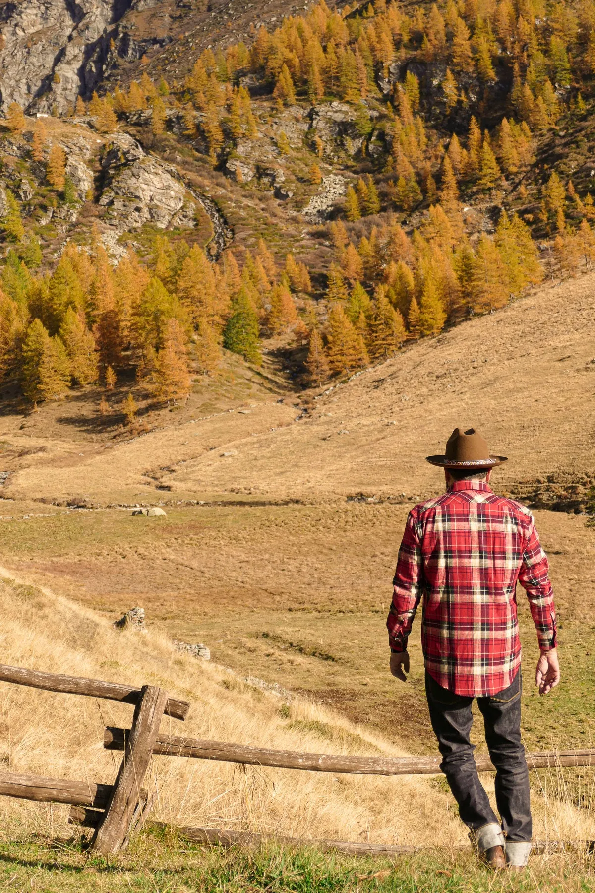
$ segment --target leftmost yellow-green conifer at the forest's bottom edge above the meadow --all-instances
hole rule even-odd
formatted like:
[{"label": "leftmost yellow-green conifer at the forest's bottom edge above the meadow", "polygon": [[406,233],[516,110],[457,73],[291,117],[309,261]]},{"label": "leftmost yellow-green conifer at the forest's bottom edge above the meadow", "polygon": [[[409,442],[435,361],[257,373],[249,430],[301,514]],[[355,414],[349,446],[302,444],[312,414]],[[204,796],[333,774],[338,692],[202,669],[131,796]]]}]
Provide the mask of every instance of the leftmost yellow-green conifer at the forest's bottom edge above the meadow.
[{"label": "leftmost yellow-green conifer at the forest's bottom edge above the meadow", "polygon": [[31,403],[53,400],[62,396],[70,384],[68,358],[62,341],[50,338],[39,320],[33,320],[27,330],[21,363],[21,387]]}]

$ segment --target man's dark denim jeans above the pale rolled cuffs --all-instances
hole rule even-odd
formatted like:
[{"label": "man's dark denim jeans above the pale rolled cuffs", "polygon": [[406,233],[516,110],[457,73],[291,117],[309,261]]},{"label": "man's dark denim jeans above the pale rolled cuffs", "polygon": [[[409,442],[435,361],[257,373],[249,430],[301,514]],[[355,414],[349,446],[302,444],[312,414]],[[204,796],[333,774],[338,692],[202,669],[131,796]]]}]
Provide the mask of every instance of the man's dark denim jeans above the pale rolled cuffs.
[{"label": "man's dark denim jeans above the pale rolled cuffs", "polygon": [[[521,671],[508,689],[490,697],[478,697],[483,714],[485,741],[496,767],[496,803],[502,830],[509,840],[531,840],[533,825],[529,798],[529,772],[521,743]],[[498,822],[475,769],[474,746],[469,740],[473,725],[472,697],[455,695],[426,672],[427,704],[438,747],[440,767],[459,804],[459,815],[471,830]]]}]

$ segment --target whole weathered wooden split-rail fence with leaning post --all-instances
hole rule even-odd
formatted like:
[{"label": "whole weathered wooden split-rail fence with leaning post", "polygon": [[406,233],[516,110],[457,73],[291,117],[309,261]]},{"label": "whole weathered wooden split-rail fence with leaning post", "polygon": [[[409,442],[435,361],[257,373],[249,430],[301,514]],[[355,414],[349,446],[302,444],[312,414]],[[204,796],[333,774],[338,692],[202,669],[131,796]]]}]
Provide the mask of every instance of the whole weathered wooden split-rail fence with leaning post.
[{"label": "whole weathered wooden split-rail fence with leaning post", "polygon": [[[88,781],[42,778],[0,772],[0,795],[21,797],[46,803],[70,804],[70,822],[94,829],[90,847],[100,855],[115,855],[125,846],[138,822],[144,821],[153,805],[153,797],[143,788],[152,755],[223,760],[229,763],[298,769],[306,772],[333,772],[359,775],[439,775],[439,756],[348,756],[308,754],[292,750],[249,747],[227,741],[184,738],[160,732],[161,717],[166,714],[185,720],[190,705],[169,697],[157,686],[140,689],[115,682],[64,676],[58,673],[26,670],[0,664],[0,681],[34,689],[105,698],[135,706],[130,729],[107,727],[103,747],[122,751],[120,769],[112,785]],[[530,769],[595,765],[595,749],[527,753]],[[475,758],[479,772],[492,772],[488,756]],[[159,824],[152,822],[152,824]],[[201,843],[253,844],[259,834],[214,828],[178,828],[186,839]],[[419,847],[389,847],[379,844],[349,843],[335,840],[277,838],[280,841],[341,850],[352,855],[397,854]]]}]

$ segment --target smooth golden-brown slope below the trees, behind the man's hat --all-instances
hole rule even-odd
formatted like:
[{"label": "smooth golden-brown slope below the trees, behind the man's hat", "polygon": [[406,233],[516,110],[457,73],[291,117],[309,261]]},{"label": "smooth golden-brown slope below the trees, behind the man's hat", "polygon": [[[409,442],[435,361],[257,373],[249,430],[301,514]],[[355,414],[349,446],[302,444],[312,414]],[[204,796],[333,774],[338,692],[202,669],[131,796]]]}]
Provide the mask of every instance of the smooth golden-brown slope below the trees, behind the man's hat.
[{"label": "smooth golden-brown slope below the trees, behind the man's hat", "polygon": [[[5,493],[130,497],[134,488],[137,497],[150,498],[154,481],[145,472],[167,464],[163,480],[177,497],[251,492],[317,499],[359,491],[421,497],[440,486],[439,472],[424,457],[442,449],[455,425],[474,424],[510,457],[497,472],[500,488],[545,504],[572,500],[569,488],[595,472],[594,290],[595,274],[544,286],[498,313],[409,346],[311,401],[311,413],[260,404],[247,415],[196,423],[186,445],[184,429],[150,433],[91,457],[64,445],[70,454],[64,463],[54,462],[54,445],[49,454],[28,456],[27,468],[15,468]],[[14,421],[2,420],[2,436],[22,443]]]}]

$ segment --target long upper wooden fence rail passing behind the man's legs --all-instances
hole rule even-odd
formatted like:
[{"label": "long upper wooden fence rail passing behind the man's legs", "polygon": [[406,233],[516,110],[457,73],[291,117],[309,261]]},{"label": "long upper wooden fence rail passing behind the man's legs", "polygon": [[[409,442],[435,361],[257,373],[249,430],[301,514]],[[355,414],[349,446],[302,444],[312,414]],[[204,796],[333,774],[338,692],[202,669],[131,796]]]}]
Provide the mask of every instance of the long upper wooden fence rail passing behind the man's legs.
[{"label": "long upper wooden fence rail passing behind the man's legs", "polygon": [[[103,747],[123,750],[128,729],[108,726],[103,732]],[[153,754],[188,756],[201,760],[222,760],[276,769],[301,769],[307,772],[337,772],[355,775],[441,775],[440,756],[345,756],[343,754],[307,754],[295,750],[269,750],[248,747],[228,741],[209,741],[157,735]],[[595,750],[563,750],[559,753],[526,754],[530,769],[558,768],[559,766],[595,765]],[[475,757],[478,772],[495,772],[487,755]]]}]

